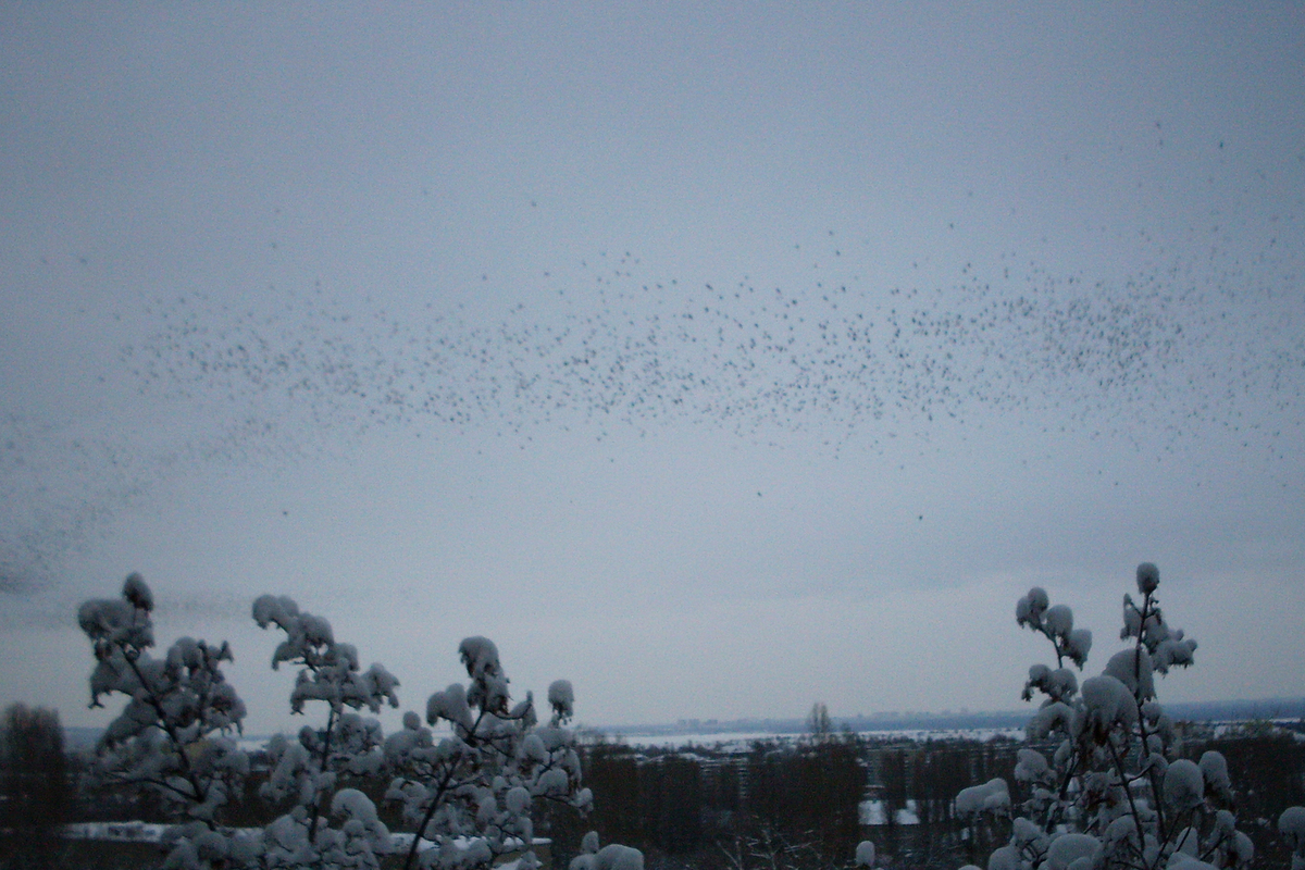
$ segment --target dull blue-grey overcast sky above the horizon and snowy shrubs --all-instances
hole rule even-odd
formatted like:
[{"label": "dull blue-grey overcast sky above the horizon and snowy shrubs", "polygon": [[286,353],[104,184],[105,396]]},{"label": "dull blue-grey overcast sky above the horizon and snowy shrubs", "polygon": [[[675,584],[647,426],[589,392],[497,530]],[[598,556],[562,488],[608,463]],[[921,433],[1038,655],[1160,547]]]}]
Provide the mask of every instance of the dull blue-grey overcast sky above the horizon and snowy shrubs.
[{"label": "dull blue-grey overcast sky above the horizon and snowy shrubs", "polygon": [[1009,708],[1031,584],[1305,694],[1298,4],[5,4],[0,703],[73,613],[405,707]]}]

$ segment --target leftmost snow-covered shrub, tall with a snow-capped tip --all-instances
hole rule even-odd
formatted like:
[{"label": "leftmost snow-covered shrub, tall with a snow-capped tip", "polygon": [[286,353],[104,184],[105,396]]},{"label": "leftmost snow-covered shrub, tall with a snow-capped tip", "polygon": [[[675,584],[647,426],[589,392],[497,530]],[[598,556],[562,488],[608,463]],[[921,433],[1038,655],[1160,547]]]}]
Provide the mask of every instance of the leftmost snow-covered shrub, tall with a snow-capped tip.
[{"label": "leftmost snow-covered shrub, tall with a snow-capped tip", "polygon": [[238,793],[249,759],[236,746],[245,707],[222,674],[231,648],[181,638],[154,657],[154,596],[140,574],[119,599],[86,601],[77,622],[91,642],[91,707],[128,698],[95,747],[93,783],[150,789],[185,822],[171,839],[170,867],[206,867],[230,852],[221,810]]}]

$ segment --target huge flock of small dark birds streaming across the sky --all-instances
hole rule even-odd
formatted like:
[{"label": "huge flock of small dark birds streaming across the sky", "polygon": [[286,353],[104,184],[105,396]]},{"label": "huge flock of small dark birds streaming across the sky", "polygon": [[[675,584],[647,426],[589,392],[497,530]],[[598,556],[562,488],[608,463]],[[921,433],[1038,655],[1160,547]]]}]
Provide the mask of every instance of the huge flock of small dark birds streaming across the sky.
[{"label": "huge flock of small dark birds streaming across the sky", "polygon": [[248,305],[153,299],[119,376],[167,413],[222,427],[142,446],[0,420],[0,592],[39,584],[168,470],[290,449],[305,427],[478,428],[526,446],[540,429],[690,424],[876,451],[1028,411],[1146,449],[1210,427],[1259,429],[1279,454],[1301,441],[1305,312],[1289,257],[1177,257],[1098,279],[1006,254],[906,287],[870,277],[834,233],[783,257],[769,274],[786,278],[719,280],[602,253],[529,287],[487,280],[474,312],[386,309],[320,286]]}]

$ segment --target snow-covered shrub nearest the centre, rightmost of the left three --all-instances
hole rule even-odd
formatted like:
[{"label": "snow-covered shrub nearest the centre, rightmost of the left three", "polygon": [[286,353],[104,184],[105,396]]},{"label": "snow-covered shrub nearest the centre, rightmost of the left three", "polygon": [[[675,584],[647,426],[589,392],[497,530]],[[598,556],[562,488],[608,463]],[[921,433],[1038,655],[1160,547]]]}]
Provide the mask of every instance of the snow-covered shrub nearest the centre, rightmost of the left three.
[{"label": "snow-covered shrub nearest the centre, rightmost of the left three", "polygon": [[[405,820],[433,843],[418,852],[414,839],[405,867],[479,865],[529,849],[536,798],[582,810],[591,802],[590,790],[581,787],[576,733],[566,727],[574,704],[570,683],[549,686],[552,717],[539,725],[529,693],[512,703],[491,640],[467,638],[458,653],[470,682],[453,683],[427,702],[427,725],[446,723],[450,733],[436,741],[431,728],[408,712],[403,729],[385,741],[386,770],[394,772],[386,800],[398,802]],[[527,850],[521,861],[532,865],[534,853]],[[592,861],[595,867],[642,867],[642,854],[625,847],[598,850]]]}]

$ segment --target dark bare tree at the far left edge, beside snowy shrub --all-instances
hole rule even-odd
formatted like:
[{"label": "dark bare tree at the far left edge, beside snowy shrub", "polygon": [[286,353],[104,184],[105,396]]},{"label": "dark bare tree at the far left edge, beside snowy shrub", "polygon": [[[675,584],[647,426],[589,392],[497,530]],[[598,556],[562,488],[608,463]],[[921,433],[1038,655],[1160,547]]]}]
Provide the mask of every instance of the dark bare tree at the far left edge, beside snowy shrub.
[{"label": "dark bare tree at the far left edge, beside snowy shrub", "polygon": [[0,866],[57,866],[59,826],[68,798],[59,713],[10,706],[0,725]]}]

